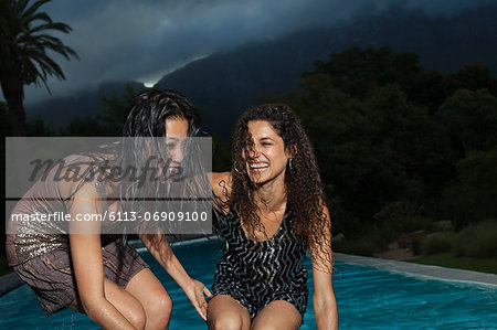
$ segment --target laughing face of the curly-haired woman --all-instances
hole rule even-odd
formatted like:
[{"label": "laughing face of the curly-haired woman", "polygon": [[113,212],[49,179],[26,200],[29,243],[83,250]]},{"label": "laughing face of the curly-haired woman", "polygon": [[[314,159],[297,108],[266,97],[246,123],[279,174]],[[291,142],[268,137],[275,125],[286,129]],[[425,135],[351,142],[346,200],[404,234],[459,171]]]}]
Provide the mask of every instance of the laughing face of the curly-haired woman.
[{"label": "laughing face of the curly-haired woman", "polygon": [[253,150],[248,151],[246,172],[254,183],[263,184],[285,179],[285,169],[290,158],[285,142],[273,126],[265,120],[248,121]]}]

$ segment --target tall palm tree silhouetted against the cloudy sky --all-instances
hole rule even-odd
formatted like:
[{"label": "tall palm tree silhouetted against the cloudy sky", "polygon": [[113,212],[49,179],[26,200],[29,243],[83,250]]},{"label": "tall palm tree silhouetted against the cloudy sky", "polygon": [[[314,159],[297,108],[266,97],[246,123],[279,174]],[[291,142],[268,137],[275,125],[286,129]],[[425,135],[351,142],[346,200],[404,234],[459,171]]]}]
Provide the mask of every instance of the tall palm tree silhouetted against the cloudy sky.
[{"label": "tall palm tree silhouetted against the cloudy sky", "polygon": [[[70,33],[71,26],[53,22],[45,12],[38,12],[51,0],[0,0],[0,84],[9,106],[12,136],[25,136],[24,85],[43,85],[46,79],[65,76],[46,51],[59,53],[67,61],[77,54],[65,46],[51,31]],[[50,31],[50,32],[49,32]]]}]

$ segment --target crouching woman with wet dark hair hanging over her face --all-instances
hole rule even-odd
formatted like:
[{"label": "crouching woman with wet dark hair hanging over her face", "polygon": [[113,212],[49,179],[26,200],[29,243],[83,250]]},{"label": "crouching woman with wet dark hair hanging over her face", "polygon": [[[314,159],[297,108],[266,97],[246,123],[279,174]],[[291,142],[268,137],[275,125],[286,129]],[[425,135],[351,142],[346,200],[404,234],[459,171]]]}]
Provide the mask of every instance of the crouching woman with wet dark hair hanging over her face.
[{"label": "crouching woman with wet dark hair hanging over her face", "polygon": [[[65,212],[76,219],[93,214],[131,217],[156,212],[163,206],[160,198],[170,195],[169,183],[186,162],[188,147],[183,141],[194,137],[198,129],[198,113],[184,97],[168,91],[144,92],[128,108],[120,143],[64,158],[62,168],[50,169],[12,214]],[[112,180],[116,177],[114,169],[139,171],[166,159],[167,171],[154,180],[148,180],[149,173],[141,181],[136,180],[136,173],[134,178]],[[193,184],[188,187],[191,190]],[[46,315],[71,308],[106,329],[165,329],[171,299],[123,235],[101,234],[114,233],[115,225],[109,221],[13,223],[7,243],[9,264],[33,289]],[[140,226],[137,233],[205,319],[204,294],[210,292],[188,276],[160,226]]]}]

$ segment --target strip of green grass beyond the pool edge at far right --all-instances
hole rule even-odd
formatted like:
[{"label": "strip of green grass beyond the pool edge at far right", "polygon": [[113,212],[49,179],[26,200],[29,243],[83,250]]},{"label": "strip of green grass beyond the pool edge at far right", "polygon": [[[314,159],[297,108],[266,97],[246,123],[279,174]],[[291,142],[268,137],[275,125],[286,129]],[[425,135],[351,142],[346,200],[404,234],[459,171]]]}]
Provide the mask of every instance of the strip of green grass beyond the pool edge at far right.
[{"label": "strip of green grass beyond the pool edge at far right", "polygon": [[497,257],[454,257],[446,252],[410,259],[408,263],[497,274]]}]

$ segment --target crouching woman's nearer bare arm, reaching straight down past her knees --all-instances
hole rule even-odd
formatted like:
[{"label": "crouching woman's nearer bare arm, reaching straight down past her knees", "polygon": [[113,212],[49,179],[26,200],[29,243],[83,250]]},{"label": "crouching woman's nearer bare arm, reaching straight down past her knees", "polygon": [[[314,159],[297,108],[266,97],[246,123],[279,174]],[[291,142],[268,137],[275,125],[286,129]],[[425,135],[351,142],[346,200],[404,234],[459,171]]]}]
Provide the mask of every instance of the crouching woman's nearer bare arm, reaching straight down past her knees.
[{"label": "crouching woman's nearer bare arm, reaching straight down past her knees", "polygon": [[[73,196],[68,212],[77,214],[102,212],[102,203],[95,188],[84,184]],[[98,222],[72,222],[70,224],[71,257],[76,277],[77,292],[86,315],[105,329],[135,329],[105,297],[104,264],[102,258]]]}]

